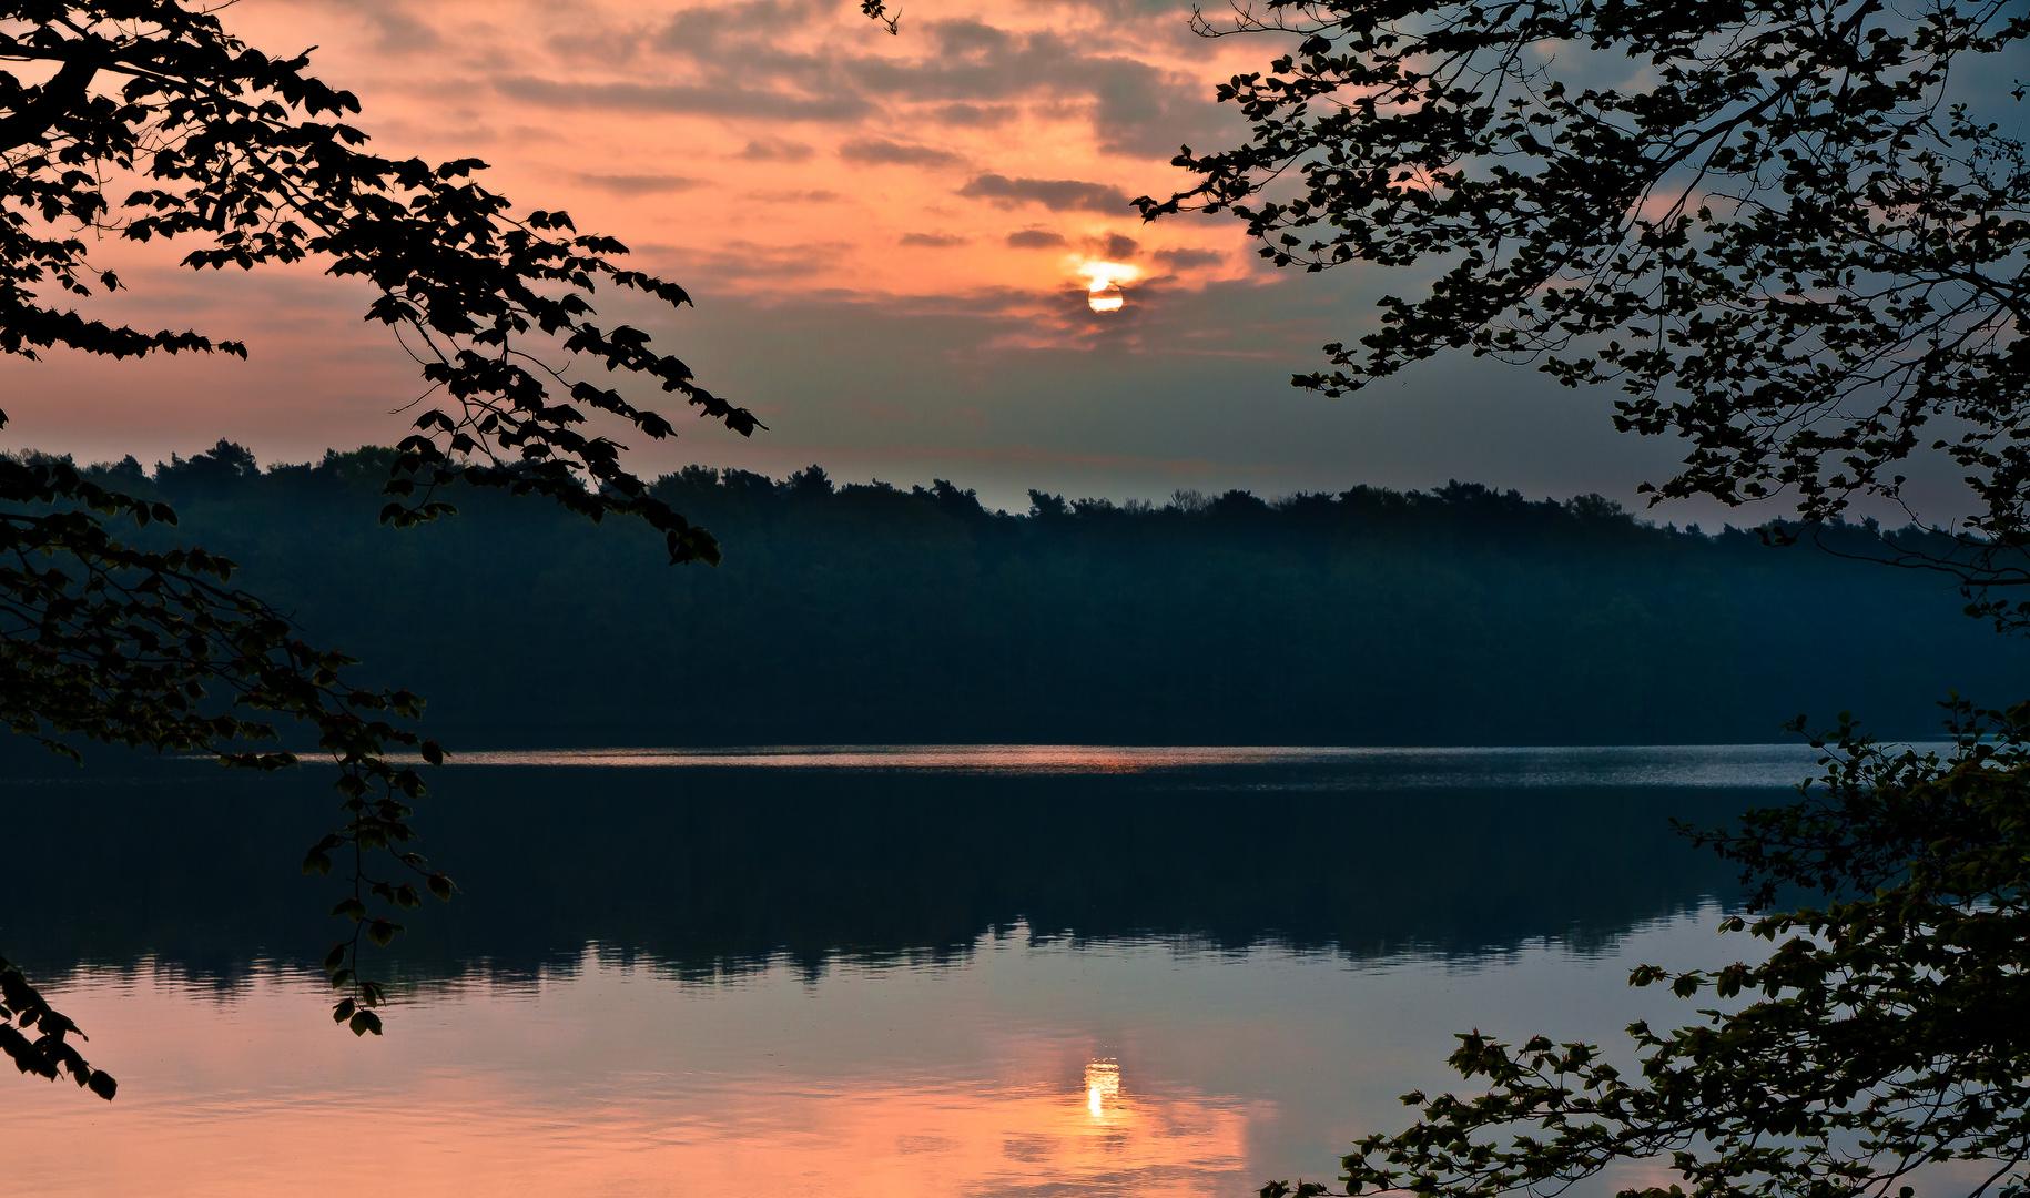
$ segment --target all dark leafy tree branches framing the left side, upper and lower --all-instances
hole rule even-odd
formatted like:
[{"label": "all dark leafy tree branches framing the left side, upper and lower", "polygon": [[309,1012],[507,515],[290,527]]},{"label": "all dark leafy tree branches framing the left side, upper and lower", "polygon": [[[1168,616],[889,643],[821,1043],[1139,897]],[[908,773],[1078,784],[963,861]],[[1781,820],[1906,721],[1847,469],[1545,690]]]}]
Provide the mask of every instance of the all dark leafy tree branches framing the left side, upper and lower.
[{"label": "all dark leafy tree branches framing the left side, upper and lower", "polygon": [[[759,426],[639,329],[597,323],[589,296],[599,286],[688,303],[676,284],[623,268],[625,246],[579,234],[562,211],[514,215],[475,183],[477,158],[367,152],[365,134],[341,120],[357,97],[307,75],[307,55],[248,47],[213,12],[177,0],[4,2],[0,63],[12,67],[0,71],[0,351],[246,355],[231,339],[79,311],[124,288],[91,264],[91,238],[179,240],[193,246],[183,258],[193,270],[319,260],[374,286],[367,319],[422,363],[434,400],[398,445],[384,522],[451,514],[441,495],[453,483],[505,487],[595,522],[644,520],[672,562],[719,560],[713,536],[652,497],[621,463],[623,447],[591,428],[662,439],[670,420],[570,378],[574,363],[597,363],[735,432]],[[420,701],[345,686],[349,660],[307,646],[282,613],[231,589],[229,560],[136,550],[110,532],[124,520],[175,514],[65,463],[0,461],[0,717],[73,755],[63,737],[209,751],[254,770],[296,761],[260,747],[276,739],[276,717],[309,725],[339,766],[345,804],[345,822],[304,861],[327,873],[337,863],[349,879],[333,914],[351,932],[325,962],[343,995],[333,1013],[355,1034],[380,1031],[382,987],[359,975],[361,938],[386,944],[400,932],[390,914],[418,906],[418,885],[451,895],[449,879],[408,849],[408,800],[422,780],[388,757],[414,747],[441,761],[434,743],[392,723]],[[112,1078],[69,1046],[75,1027],[6,964],[0,999],[0,1048],[16,1066],[114,1094]]]}]

